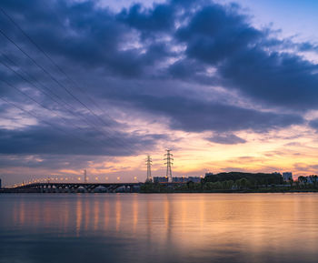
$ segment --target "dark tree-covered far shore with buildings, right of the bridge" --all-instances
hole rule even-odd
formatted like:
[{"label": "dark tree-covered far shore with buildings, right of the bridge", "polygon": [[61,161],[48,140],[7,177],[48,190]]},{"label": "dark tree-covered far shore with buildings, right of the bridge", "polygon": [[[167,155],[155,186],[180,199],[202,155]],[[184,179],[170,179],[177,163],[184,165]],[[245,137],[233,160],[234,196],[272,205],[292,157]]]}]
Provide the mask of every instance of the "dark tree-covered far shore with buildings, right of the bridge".
[{"label": "dark tree-covered far shore with buildings, right of the bridge", "polygon": [[145,183],[142,193],[233,193],[233,192],[297,192],[318,191],[318,177],[299,177],[297,181],[283,181],[279,173],[208,173],[200,183]]}]

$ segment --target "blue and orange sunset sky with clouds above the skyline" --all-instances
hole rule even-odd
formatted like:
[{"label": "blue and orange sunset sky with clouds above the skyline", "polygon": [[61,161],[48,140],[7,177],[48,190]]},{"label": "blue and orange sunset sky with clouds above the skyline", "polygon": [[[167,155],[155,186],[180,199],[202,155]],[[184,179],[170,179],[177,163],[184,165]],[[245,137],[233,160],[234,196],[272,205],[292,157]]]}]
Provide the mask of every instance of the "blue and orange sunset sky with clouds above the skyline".
[{"label": "blue and orange sunset sky with clouds above the skyline", "polygon": [[0,177],[318,169],[316,1],[0,4]]}]

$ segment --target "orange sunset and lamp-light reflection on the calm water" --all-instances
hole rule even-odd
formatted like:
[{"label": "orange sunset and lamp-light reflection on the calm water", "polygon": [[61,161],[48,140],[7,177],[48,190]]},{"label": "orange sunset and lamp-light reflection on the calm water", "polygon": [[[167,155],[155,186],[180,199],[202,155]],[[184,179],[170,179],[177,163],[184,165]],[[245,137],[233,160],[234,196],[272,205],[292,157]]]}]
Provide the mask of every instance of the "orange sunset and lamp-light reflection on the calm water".
[{"label": "orange sunset and lamp-light reflection on the calm water", "polygon": [[30,195],[5,209],[3,226],[59,237],[116,232],[175,253],[199,248],[315,253],[318,247],[315,194]]}]

